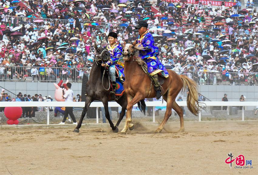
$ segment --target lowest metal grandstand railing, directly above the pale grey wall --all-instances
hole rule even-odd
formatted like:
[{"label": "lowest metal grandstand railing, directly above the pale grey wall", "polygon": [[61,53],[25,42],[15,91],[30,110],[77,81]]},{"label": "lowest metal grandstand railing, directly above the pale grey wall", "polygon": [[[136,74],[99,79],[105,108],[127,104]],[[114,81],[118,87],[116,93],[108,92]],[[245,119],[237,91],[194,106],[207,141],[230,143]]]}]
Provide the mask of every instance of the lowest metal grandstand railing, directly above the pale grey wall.
[{"label": "lowest metal grandstand railing, directly above the pale grey wall", "polygon": [[[6,66],[7,68],[8,66]],[[26,82],[59,82],[69,78],[73,82],[82,82],[83,74],[89,73],[89,68],[60,68],[60,67],[37,67],[38,73],[32,75],[32,67],[9,66],[11,72],[0,74],[0,81],[23,81],[19,80],[17,73],[25,76]],[[52,69],[53,72],[47,74],[47,70]],[[198,72],[198,71],[175,71],[179,75],[192,77],[198,84],[204,85],[258,85],[258,72],[240,73],[240,72]]]}]

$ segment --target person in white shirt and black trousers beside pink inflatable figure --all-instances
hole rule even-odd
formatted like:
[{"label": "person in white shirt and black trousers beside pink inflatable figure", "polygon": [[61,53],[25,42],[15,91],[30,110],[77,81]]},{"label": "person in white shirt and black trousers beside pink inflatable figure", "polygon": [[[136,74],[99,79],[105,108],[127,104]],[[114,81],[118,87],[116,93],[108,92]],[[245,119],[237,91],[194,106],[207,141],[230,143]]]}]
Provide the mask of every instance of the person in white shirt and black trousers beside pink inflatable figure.
[{"label": "person in white shirt and black trousers beside pink inflatable figure", "polygon": [[[66,93],[64,95],[62,95],[62,97],[65,99],[66,102],[73,102],[73,90],[71,89],[72,84],[70,82],[68,82],[66,84],[66,86],[67,86],[66,87]],[[77,125],[76,119],[73,115],[73,107],[65,107],[65,113],[64,113],[63,121],[59,124],[60,125],[65,124],[66,117],[68,117],[68,114],[72,118],[73,124]]]}]

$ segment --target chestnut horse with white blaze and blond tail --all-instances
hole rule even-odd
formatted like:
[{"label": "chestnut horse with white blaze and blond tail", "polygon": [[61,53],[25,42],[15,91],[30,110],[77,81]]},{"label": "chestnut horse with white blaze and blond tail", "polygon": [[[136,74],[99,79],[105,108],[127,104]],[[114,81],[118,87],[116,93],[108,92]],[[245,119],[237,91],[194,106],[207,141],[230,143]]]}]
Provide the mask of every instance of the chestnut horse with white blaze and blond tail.
[{"label": "chestnut horse with white blaze and blond tail", "polygon": [[[126,133],[128,128],[130,130],[134,129],[134,124],[131,119],[131,112],[134,104],[142,101],[144,98],[156,97],[156,92],[154,87],[151,86],[150,78],[140,66],[142,64],[146,65],[146,63],[136,56],[136,52],[138,50],[141,50],[141,48],[134,47],[131,43],[127,43],[123,47],[125,76],[124,89],[127,94],[127,115],[124,129],[121,133]],[[168,78],[164,78],[164,84],[161,85],[163,90],[162,96],[167,102],[167,109],[164,119],[156,132],[161,132],[165,123],[168,121],[168,118],[171,116],[172,108],[180,117],[179,132],[184,132],[183,110],[175,102],[175,99],[182,88],[185,90],[186,87],[188,87],[187,107],[194,115],[197,115],[200,107],[198,103],[197,84],[187,76],[179,76],[172,70],[168,70],[168,73]],[[142,107],[145,107],[144,105]]]}]

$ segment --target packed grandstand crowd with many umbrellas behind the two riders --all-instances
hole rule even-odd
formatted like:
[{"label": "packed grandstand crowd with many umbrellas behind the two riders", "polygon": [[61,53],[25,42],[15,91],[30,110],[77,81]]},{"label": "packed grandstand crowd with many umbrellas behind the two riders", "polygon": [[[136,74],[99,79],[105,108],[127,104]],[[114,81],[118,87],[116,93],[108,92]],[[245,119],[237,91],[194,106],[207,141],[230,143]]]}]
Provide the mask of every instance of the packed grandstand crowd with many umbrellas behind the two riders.
[{"label": "packed grandstand crowd with many umbrellas behind the two riders", "polygon": [[146,20],[167,69],[201,84],[258,84],[258,17],[253,1],[248,0],[244,9],[240,0],[220,5],[194,0],[24,3],[32,12],[14,1],[0,3],[1,80],[77,82],[90,72],[95,43],[107,45],[112,31],[121,45],[134,41],[138,36],[134,26]]}]

